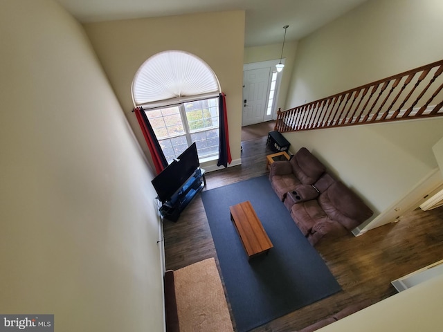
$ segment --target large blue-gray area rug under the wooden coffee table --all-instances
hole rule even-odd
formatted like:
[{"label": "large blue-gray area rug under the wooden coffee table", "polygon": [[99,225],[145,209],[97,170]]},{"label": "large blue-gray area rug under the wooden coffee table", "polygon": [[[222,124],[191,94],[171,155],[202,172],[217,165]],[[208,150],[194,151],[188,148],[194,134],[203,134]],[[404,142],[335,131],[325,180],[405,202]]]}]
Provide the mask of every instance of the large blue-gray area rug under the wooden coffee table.
[{"label": "large blue-gray area rug under the wooden coffee table", "polygon": [[[239,332],[341,291],[267,176],[203,191],[201,198]],[[251,261],[230,221],[229,206],[244,201],[251,201],[274,246]]]}]

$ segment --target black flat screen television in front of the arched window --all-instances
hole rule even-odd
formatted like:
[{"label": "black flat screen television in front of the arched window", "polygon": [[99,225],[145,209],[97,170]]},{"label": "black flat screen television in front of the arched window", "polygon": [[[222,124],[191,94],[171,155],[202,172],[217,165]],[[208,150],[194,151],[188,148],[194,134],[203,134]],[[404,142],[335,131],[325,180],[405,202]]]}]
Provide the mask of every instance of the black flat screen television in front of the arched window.
[{"label": "black flat screen television in front of the arched window", "polygon": [[173,160],[151,182],[162,202],[169,201],[199,167],[199,155],[195,142],[183,154]]}]

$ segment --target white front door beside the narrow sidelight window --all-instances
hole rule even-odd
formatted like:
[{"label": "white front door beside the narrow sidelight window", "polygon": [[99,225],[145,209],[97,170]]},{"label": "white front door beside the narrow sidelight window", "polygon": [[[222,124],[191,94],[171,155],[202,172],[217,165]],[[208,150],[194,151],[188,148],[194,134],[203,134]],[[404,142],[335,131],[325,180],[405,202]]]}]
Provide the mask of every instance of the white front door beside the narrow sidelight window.
[{"label": "white front door beside the narrow sidelight window", "polygon": [[269,99],[271,68],[251,69],[243,72],[242,126],[264,122]]}]

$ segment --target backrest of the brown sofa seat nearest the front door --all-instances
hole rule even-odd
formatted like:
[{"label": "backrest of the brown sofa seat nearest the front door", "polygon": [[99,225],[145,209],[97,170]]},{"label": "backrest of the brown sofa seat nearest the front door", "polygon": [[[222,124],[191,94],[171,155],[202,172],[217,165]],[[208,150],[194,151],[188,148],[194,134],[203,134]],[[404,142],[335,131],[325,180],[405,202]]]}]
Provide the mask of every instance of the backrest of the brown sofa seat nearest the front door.
[{"label": "backrest of the brown sofa seat nearest the front door", "polygon": [[318,160],[308,149],[302,147],[291,158],[292,172],[304,185],[312,185],[326,170],[320,160]]}]

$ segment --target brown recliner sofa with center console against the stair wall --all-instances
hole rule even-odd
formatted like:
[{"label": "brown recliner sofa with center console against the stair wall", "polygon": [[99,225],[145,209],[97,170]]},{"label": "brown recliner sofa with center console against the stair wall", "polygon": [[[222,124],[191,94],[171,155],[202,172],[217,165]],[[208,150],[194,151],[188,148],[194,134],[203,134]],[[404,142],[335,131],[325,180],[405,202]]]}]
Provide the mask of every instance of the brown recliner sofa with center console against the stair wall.
[{"label": "brown recliner sofa with center console against the stair wall", "polygon": [[291,160],[272,163],[269,180],[312,245],[346,234],[372,216],[359,196],[329,174],[305,147]]}]

